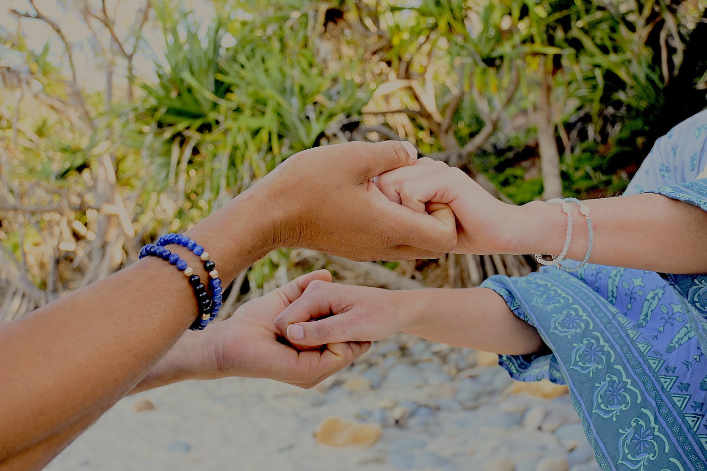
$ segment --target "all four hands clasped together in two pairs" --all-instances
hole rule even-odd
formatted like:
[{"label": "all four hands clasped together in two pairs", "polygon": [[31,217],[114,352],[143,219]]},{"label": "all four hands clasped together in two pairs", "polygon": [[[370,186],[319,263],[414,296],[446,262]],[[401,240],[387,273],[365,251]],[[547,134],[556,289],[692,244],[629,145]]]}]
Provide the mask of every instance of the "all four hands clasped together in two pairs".
[{"label": "all four hands clasped together in two pairs", "polygon": [[[417,159],[409,143],[308,149],[241,197],[266,202],[270,216],[263,233],[271,238],[270,248],[306,247],[351,260],[411,260],[450,251],[503,252],[513,238],[507,227],[513,207],[462,170]],[[305,274],[204,332],[187,332],[152,374],[173,380],[263,377],[310,388],[368,351],[371,340],[411,322],[402,293],[331,279],[326,270]],[[332,313],[349,315],[307,322]],[[283,337],[297,348],[281,342]]]}]

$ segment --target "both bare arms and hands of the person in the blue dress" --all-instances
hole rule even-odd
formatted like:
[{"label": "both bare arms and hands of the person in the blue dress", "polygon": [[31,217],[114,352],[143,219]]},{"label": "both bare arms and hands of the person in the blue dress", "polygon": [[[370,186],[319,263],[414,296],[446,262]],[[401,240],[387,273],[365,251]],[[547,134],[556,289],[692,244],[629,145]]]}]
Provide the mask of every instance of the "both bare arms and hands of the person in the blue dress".
[{"label": "both bare arms and hands of the person in the blue dress", "polygon": [[[461,170],[429,158],[380,175],[377,185],[391,201],[416,211],[448,205],[457,219],[457,253],[558,255],[565,241],[567,218],[561,205],[505,204]],[[660,194],[585,204],[594,229],[590,262],[655,272],[707,272],[707,214],[701,209]],[[567,257],[583,260],[587,226],[578,206],[572,206],[575,229]],[[386,291],[316,281],[276,318],[276,325],[300,349],[377,340],[399,331],[497,354],[547,349],[537,330],[486,288]]]}]

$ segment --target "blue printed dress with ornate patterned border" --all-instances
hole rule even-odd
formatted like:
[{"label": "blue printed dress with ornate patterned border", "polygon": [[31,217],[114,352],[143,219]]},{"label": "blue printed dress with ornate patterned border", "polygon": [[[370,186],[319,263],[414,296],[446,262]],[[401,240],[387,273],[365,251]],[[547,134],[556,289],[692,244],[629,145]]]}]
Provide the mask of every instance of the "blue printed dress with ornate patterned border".
[{"label": "blue printed dress with ornate patterned border", "polygon": [[[664,194],[707,211],[706,166],[703,111],[656,141],[626,194]],[[681,237],[675,228],[676,243]],[[707,275],[588,264],[481,286],[553,352],[502,355],[499,364],[518,380],[568,385],[604,470],[707,471]]]}]

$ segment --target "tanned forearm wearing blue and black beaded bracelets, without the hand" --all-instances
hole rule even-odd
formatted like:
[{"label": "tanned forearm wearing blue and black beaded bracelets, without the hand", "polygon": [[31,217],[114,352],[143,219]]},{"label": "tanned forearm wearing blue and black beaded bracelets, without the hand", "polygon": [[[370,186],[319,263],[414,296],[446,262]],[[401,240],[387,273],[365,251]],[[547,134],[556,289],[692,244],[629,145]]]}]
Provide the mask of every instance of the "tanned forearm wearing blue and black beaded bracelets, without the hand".
[{"label": "tanned forearm wearing blue and black beaded bracelets, without the hand", "polygon": [[[251,198],[245,194],[187,233],[209,250],[226,283],[269,250],[252,226],[262,205]],[[3,327],[0,461],[83,417],[98,417],[144,378],[196,315],[185,277],[147,257]]]}]

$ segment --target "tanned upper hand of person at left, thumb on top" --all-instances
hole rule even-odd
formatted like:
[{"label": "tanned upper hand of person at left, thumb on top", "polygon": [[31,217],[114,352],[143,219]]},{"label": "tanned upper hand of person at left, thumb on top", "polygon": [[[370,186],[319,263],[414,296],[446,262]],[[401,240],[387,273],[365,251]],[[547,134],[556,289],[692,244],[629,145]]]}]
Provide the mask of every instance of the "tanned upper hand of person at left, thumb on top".
[{"label": "tanned upper hand of person at left, thumb on top", "polygon": [[436,258],[456,243],[452,211],[417,213],[390,202],[370,179],[413,165],[407,142],[351,142],[288,158],[252,190],[274,214],[274,246],[351,260]]}]

